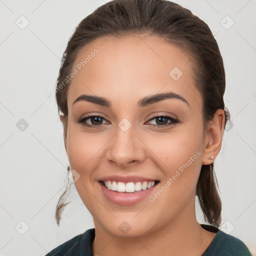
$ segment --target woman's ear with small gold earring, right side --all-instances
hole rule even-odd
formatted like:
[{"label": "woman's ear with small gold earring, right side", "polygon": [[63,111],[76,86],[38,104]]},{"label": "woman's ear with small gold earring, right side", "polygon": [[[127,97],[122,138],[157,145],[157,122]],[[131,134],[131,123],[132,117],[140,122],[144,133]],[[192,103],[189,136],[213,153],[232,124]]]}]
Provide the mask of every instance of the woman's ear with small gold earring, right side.
[{"label": "woman's ear with small gold earring, right side", "polygon": [[[210,164],[217,157],[222,142],[225,114],[223,109],[217,109],[212,120],[207,124],[203,138],[202,165]],[[213,159],[209,159],[213,156]]]}]

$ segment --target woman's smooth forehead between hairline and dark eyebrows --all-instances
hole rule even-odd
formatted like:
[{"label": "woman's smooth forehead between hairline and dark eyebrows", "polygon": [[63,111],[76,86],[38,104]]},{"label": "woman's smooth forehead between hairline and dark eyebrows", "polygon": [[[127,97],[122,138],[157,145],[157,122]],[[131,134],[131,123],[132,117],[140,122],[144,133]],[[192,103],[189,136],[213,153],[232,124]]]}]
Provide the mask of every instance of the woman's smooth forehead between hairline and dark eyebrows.
[{"label": "woman's smooth forehead between hairline and dark eyebrows", "polygon": [[119,101],[131,103],[132,99],[169,91],[195,101],[196,107],[201,104],[190,57],[157,36],[97,38],[79,51],[73,68],[77,74],[68,88],[68,108],[81,94],[109,99],[118,95]]}]

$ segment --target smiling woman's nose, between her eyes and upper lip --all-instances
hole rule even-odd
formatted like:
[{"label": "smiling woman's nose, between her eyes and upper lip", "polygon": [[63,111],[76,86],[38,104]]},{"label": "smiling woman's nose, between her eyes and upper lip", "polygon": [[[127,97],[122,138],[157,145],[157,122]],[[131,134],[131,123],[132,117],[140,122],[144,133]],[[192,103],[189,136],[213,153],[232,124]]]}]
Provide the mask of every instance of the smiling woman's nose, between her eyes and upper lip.
[{"label": "smiling woman's nose, between her eyes and upper lip", "polygon": [[117,126],[116,134],[109,141],[106,159],[120,168],[125,168],[145,158],[145,145],[131,127],[123,131]]}]

